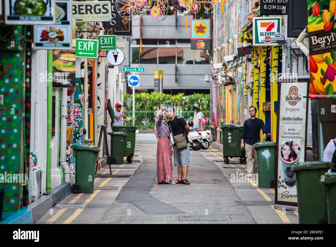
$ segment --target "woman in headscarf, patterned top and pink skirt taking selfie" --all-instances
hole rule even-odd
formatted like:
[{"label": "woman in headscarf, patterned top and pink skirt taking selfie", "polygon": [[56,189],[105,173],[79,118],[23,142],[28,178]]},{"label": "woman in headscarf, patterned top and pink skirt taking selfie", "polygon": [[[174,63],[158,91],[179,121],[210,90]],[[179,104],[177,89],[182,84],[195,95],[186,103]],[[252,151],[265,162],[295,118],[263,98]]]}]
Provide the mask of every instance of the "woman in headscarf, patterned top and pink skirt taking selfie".
[{"label": "woman in headscarf, patterned top and pink skirt taking selfie", "polygon": [[157,137],[159,138],[156,153],[158,184],[176,184],[173,178],[173,166],[171,161],[174,149],[170,139],[170,130],[168,124],[166,124],[164,106],[165,105],[162,106],[161,111],[158,111],[155,118]]}]

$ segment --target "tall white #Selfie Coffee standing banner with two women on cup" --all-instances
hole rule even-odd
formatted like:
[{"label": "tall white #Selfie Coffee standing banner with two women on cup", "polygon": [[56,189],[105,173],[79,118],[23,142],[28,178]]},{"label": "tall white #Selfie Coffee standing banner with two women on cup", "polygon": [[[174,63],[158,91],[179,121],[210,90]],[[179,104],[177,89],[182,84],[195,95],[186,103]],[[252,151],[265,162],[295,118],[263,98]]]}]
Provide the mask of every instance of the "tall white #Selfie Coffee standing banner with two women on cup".
[{"label": "tall white #Selfie Coffee standing banner with two women on cup", "polygon": [[[305,160],[308,79],[281,82],[278,100],[276,205],[297,207],[296,176],[291,166]],[[277,207],[279,208],[279,207]],[[280,207],[286,208],[286,207]]]}]

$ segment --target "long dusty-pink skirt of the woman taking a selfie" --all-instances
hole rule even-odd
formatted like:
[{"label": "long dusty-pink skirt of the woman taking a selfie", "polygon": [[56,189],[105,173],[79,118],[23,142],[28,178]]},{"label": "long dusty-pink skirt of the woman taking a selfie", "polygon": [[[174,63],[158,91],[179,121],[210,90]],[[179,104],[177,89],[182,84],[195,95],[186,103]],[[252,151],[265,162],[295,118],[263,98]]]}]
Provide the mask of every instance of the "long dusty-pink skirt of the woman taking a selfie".
[{"label": "long dusty-pink skirt of the woman taking a selfie", "polygon": [[168,137],[162,137],[158,140],[156,151],[158,183],[163,181],[173,181],[173,167],[171,161],[171,149]]}]

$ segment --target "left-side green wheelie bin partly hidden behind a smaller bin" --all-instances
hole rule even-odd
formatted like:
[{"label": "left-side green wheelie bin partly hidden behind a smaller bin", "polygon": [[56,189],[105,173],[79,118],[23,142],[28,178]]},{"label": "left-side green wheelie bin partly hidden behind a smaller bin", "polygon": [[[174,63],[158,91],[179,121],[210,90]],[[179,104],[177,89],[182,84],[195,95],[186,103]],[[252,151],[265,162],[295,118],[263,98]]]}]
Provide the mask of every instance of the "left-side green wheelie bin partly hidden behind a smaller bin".
[{"label": "left-side green wheelie bin partly hidden behind a smaller bin", "polygon": [[112,131],[116,132],[124,132],[127,134],[125,138],[125,148],[124,148],[124,156],[127,156],[126,160],[128,163],[132,163],[133,155],[134,155],[134,148],[135,148],[135,130],[138,126],[112,126]]}]

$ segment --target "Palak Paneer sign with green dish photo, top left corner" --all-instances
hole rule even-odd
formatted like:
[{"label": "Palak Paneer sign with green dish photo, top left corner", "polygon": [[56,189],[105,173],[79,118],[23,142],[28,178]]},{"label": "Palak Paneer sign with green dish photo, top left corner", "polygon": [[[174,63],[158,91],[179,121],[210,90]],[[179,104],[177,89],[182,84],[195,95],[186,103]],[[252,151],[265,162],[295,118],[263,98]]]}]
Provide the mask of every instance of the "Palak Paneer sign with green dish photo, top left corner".
[{"label": "Palak Paneer sign with green dish photo, top left corner", "polygon": [[6,24],[55,24],[54,0],[4,0],[4,2]]}]

